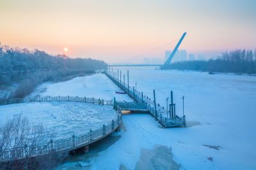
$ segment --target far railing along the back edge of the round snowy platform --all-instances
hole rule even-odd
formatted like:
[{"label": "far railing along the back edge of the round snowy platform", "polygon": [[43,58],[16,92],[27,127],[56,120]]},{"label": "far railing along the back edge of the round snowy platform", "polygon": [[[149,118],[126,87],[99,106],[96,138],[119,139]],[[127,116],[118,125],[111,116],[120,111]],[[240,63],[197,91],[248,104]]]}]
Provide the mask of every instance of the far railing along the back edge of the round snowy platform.
[{"label": "far railing along the back edge of the round snowy platform", "polygon": [[7,104],[19,104],[19,103],[28,103],[28,102],[86,102],[99,105],[113,105],[113,100],[103,100],[100,98],[88,98],[88,97],[40,97],[39,95],[35,97],[26,97],[26,98],[11,98],[11,99],[1,99],[0,105]]}]

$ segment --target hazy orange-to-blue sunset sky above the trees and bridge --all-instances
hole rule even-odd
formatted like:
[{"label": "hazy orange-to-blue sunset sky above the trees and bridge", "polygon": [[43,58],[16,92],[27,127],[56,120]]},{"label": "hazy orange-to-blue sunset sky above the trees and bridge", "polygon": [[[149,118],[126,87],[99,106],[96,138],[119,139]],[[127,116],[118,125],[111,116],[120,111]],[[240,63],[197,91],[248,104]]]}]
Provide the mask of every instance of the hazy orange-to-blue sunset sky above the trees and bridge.
[{"label": "hazy orange-to-blue sunset sky above the trees and bridge", "polygon": [[[2,45],[109,63],[256,48],[255,0],[0,0]],[[63,49],[67,47],[68,52]]]}]

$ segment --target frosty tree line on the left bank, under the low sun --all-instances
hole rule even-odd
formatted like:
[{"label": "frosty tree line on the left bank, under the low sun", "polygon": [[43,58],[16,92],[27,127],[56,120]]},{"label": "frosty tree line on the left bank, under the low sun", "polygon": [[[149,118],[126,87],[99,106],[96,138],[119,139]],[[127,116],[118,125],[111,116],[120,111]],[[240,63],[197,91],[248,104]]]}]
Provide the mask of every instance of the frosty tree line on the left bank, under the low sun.
[{"label": "frosty tree line on the left bank, under the low sun", "polygon": [[22,98],[44,81],[84,75],[107,68],[104,61],[92,58],[69,58],[42,50],[20,49],[0,45],[0,89],[18,84],[10,98]]}]

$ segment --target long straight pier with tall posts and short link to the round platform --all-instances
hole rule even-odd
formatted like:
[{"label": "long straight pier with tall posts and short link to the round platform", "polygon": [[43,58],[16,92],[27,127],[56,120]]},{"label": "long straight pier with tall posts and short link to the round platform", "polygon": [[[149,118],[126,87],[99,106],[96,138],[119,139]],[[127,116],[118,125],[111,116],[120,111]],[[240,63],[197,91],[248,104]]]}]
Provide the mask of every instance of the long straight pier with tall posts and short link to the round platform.
[{"label": "long straight pier with tall posts and short link to the round platform", "polygon": [[[114,100],[114,108],[115,105],[121,110],[129,110],[129,111],[147,111],[151,114],[163,127],[178,127],[184,126],[186,127],[186,116],[183,114],[182,116],[177,116],[175,111],[175,104],[173,104],[173,100],[171,97],[170,110],[169,112],[161,105],[156,104],[155,90],[154,90],[154,100],[151,100],[146,95],[143,95],[143,92],[137,91],[134,89],[134,86],[129,86],[129,70],[127,70],[127,84],[125,84],[125,76],[124,81],[122,81],[121,71],[116,73],[110,70],[104,72],[111,81],[113,81],[119,88],[125,91],[129,97],[134,100],[134,103],[131,102],[118,102]],[[130,105],[130,106],[129,106]],[[139,108],[139,109],[136,109]],[[168,117],[168,114],[170,115]]]}]

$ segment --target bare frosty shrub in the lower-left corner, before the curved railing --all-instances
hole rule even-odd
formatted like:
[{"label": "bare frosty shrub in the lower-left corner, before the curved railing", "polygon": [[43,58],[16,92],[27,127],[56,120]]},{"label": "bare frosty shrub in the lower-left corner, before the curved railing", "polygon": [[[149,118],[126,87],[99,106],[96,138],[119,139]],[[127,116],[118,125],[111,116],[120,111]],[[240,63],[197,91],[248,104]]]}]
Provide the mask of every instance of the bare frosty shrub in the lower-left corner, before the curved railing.
[{"label": "bare frosty shrub in the lower-left corner, before the curved railing", "polygon": [[0,127],[0,169],[51,169],[68,155],[51,150],[51,139],[42,124],[31,127],[28,118],[15,116]]}]

